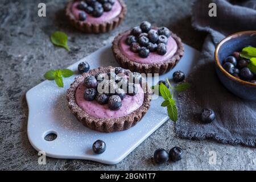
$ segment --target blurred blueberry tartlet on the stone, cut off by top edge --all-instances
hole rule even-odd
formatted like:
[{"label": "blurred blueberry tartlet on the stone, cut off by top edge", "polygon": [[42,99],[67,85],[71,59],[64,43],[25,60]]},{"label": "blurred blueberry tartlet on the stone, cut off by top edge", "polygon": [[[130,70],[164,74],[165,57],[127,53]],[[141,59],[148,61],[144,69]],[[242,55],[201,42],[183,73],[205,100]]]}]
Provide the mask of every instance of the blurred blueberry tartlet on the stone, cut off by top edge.
[{"label": "blurred blueberry tartlet on the stone, cut off by top edge", "polygon": [[85,33],[100,34],[117,27],[125,18],[127,8],[122,0],[71,1],[66,15],[71,24]]}]

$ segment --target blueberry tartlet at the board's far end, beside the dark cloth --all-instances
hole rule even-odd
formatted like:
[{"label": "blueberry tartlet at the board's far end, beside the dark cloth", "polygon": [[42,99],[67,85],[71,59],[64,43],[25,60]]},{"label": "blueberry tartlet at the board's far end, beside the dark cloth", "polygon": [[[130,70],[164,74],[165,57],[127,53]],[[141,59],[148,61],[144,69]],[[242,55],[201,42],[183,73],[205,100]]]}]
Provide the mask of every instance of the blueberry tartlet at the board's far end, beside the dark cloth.
[{"label": "blueberry tartlet at the board's far end, beside the dark cloth", "polygon": [[181,39],[168,28],[142,22],[115,37],[112,51],[122,68],[162,75],[179,62],[184,47]]}]

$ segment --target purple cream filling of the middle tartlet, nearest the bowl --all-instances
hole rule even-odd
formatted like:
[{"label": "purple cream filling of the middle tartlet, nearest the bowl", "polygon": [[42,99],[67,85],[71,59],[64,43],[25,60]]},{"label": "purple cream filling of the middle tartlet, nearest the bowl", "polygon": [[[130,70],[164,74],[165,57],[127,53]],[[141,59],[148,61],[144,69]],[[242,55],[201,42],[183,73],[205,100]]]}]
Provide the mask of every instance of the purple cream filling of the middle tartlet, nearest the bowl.
[{"label": "purple cream filling of the middle tartlet, nearest the bowl", "polygon": [[164,61],[167,61],[172,56],[174,56],[175,53],[177,52],[177,48],[178,48],[177,43],[174,40],[174,38],[172,38],[172,36],[170,36],[168,38],[167,53],[165,55],[162,56],[162,55],[158,55],[158,53],[156,53],[156,52],[150,52],[150,55],[147,58],[139,57],[138,53],[134,53],[134,52],[130,51],[130,46],[128,46],[125,43],[125,40],[129,34],[130,34],[130,32],[127,32],[126,34],[124,34],[122,36],[122,38],[119,42],[119,49],[124,56],[126,56],[130,60],[133,60],[137,63],[141,63],[141,64],[163,63]]}]

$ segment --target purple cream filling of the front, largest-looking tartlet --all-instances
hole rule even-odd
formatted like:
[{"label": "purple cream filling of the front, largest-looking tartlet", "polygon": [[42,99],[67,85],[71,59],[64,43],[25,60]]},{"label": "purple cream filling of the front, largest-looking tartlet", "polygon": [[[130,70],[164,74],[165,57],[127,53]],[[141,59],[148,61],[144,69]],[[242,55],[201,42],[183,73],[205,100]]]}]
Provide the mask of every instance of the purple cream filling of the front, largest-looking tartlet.
[{"label": "purple cream filling of the front, largest-looking tartlet", "polygon": [[119,118],[132,113],[139,109],[144,102],[144,93],[140,85],[138,85],[138,94],[135,96],[129,96],[126,94],[122,100],[122,107],[119,110],[110,110],[108,104],[100,105],[97,101],[86,101],[84,99],[84,91],[86,87],[81,84],[76,89],[76,103],[87,114],[92,115],[95,118]]}]

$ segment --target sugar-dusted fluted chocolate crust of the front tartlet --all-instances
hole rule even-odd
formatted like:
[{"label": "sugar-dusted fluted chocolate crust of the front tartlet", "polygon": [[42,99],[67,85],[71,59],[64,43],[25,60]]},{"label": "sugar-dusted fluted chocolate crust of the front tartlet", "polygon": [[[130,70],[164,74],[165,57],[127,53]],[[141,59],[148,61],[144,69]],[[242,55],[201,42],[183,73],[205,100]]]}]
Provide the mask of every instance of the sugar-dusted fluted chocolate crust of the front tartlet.
[{"label": "sugar-dusted fluted chocolate crust of the front tartlet", "polygon": [[[143,101],[142,105],[134,110],[133,112],[124,115],[118,118],[98,118],[94,117],[91,114],[88,114],[81,106],[79,106],[76,93],[80,85],[84,85],[84,80],[88,76],[95,76],[98,73],[109,73],[113,67],[100,67],[97,69],[92,69],[88,73],[83,73],[82,76],[76,77],[75,81],[71,84],[71,87],[67,90],[67,100],[68,107],[71,109],[72,113],[76,118],[82,123],[82,125],[88,127],[89,129],[104,132],[112,133],[115,131],[127,130],[130,127],[136,125],[144,114],[147,113],[147,110],[150,107],[150,89],[148,88],[146,92],[143,92]],[[126,73],[131,73],[126,70]],[[128,96],[129,97],[129,96]],[[121,107],[122,109],[122,107]],[[113,111],[114,112],[114,111]]]}]

